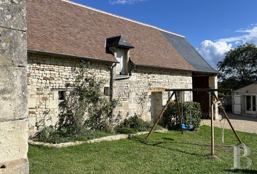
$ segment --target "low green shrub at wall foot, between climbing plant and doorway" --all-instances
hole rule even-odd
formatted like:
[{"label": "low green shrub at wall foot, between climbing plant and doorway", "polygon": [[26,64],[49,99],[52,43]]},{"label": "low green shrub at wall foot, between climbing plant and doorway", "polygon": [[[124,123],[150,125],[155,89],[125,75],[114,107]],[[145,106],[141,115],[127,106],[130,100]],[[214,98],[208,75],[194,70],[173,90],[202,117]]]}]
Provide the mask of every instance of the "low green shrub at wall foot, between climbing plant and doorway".
[{"label": "low green shrub at wall foot, between climbing plant and doorway", "polygon": [[135,114],[134,116],[126,118],[123,122],[121,122],[118,125],[117,130],[121,128],[130,128],[136,131],[150,131],[152,126],[153,124],[151,122],[144,121],[142,118],[140,118],[140,116]]}]

